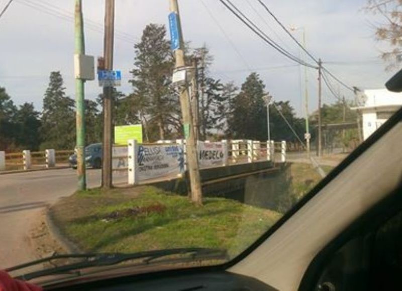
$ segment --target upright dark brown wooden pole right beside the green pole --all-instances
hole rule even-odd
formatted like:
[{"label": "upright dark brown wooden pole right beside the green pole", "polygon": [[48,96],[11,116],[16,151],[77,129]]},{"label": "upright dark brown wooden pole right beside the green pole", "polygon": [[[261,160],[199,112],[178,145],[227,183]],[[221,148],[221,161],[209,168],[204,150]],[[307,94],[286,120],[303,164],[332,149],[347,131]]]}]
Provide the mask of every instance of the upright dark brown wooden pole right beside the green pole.
[{"label": "upright dark brown wooden pole right beside the green pole", "polygon": [[[113,70],[113,46],[115,31],[115,0],[106,0],[105,9],[105,40],[104,59],[105,70]],[[113,87],[104,87],[104,136],[103,136],[103,167],[102,186],[110,189],[112,183],[112,146],[113,146]]]}]

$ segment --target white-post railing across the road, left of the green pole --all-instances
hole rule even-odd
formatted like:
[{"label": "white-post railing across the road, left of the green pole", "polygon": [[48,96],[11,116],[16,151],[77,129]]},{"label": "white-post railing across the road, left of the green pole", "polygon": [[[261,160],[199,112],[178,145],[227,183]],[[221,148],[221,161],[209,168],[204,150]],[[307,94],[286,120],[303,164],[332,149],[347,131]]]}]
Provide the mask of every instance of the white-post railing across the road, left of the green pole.
[{"label": "white-post railing across the road, left of the green pole", "polygon": [[0,151],[0,171],[46,169],[56,166],[66,166],[68,157],[73,150],[48,149],[45,151],[31,152],[24,150],[19,153],[6,153]]}]

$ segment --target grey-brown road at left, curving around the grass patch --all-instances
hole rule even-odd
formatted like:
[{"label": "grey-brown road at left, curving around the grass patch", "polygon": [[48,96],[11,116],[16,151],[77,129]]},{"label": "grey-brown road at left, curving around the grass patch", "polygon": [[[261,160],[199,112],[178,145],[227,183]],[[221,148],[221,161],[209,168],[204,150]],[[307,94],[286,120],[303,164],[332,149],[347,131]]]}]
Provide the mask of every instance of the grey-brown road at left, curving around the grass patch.
[{"label": "grey-brown road at left, curving around the grass patch", "polygon": [[[117,174],[114,182],[125,183],[127,176]],[[100,170],[87,170],[87,184],[100,186]],[[72,169],[0,175],[0,269],[36,259],[29,240],[35,218],[76,185]]]}]

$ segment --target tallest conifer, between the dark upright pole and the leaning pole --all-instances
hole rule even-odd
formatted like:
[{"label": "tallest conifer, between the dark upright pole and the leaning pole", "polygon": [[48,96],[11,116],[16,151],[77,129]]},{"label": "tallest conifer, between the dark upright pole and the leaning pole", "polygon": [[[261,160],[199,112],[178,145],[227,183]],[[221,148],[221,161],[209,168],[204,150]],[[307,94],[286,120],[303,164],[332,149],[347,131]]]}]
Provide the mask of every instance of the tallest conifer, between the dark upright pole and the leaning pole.
[{"label": "tallest conifer, between the dark upright pole and the leaning pole", "polygon": [[[149,24],[141,41],[134,46],[135,61],[131,71],[133,79],[132,101],[150,139],[165,139],[169,121],[179,107],[178,98],[169,87],[173,70],[173,56],[163,25]],[[152,129],[158,129],[155,133]]]}]

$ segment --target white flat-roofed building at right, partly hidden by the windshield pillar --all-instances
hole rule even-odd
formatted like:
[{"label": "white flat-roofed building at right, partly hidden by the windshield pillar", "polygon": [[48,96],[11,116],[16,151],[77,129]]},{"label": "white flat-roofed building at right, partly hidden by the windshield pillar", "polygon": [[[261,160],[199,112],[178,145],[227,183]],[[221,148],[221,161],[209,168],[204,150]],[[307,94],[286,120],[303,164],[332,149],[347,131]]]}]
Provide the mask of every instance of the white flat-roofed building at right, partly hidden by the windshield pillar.
[{"label": "white flat-roofed building at right, partly hidden by the windshield pillar", "polygon": [[402,93],[394,93],[387,89],[364,90],[358,99],[361,106],[352,109],[358,110],[363,117],[364,140],[402,107]]}]

